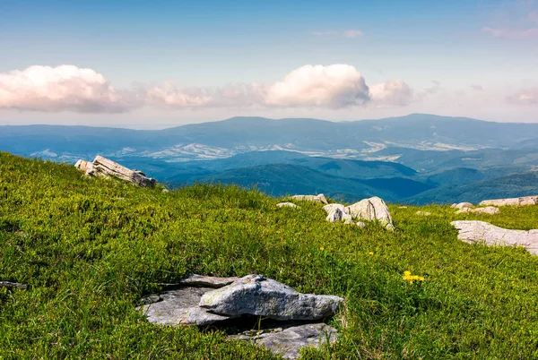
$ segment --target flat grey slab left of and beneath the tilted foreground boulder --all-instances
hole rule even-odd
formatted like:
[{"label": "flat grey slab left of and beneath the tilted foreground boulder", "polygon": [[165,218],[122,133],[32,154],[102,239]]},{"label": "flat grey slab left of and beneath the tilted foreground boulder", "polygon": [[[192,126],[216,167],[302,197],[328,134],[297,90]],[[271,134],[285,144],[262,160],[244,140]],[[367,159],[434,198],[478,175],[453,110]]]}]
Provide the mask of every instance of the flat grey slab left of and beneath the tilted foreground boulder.
[{"label": "flat grey slab left of and beneath the tilted foreground boulder", "polygon": [[198,306],[200,298],[213,287],[179,287],[161,293],[159,296],[147,296],[143,299],[143,313],[148,321],[157,325],[198,325],[205,326],[217,321],[230,319],[209,313]]}]

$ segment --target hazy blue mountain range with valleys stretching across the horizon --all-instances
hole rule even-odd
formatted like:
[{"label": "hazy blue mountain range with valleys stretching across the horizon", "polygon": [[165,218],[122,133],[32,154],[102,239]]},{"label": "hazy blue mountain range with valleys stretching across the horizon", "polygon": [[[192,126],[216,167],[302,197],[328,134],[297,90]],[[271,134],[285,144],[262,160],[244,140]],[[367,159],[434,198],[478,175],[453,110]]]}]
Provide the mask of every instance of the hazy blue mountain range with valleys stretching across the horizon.
[{"label": "hazy blue mountain range with valleys stretching across the horizon", "polygon": [[412,114],[329,122],[234,117],[154,131],[0,126],[0,150],[74,163],[100,154],[170,186],[452,202],[538,193],[538,124]]}]

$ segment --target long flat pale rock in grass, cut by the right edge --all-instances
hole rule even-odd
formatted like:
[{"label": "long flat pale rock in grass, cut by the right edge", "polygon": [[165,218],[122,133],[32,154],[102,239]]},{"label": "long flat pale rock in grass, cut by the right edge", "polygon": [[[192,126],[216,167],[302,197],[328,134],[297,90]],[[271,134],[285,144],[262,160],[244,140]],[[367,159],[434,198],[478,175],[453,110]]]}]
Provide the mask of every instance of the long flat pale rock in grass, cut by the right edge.
[{"label": "long flat pale rock in grass, cut by the right edge", "polygon": [[484,221],[453,221],[451,224],[459,231],[458,239],[466,243],[488,245],[520,245],[529,253],[538,255],[538,229],[510,230],[496,227]]}]

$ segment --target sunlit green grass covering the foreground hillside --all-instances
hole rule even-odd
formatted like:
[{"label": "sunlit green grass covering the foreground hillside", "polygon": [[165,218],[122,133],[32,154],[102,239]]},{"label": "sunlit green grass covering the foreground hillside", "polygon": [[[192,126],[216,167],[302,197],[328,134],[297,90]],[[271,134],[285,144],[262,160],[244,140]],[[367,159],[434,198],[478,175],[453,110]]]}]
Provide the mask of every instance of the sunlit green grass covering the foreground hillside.
[{"label": "sunlit green grass covering the foreground hillside", "polygon": [[[449,224],[536,228],[538,206],[488,216],[391,205],[391,233],[327,223],[314,203],[277,210],[279,201],[233,186],[162,193],[0,153],[0,279],[30,286],[0,288],[0,358],[275,358],[135,310],[191,271],[261,273],[343,296],[339,341],[305,358],[538,358],[538,257],[464,244]],[[409,285],[404,270],[425,281]]]}]

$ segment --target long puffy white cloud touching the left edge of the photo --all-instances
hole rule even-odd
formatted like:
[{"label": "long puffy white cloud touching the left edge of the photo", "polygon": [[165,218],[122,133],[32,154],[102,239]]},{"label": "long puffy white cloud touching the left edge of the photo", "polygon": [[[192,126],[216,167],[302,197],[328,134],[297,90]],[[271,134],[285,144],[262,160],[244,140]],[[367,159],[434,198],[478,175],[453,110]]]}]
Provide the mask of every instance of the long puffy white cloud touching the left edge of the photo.
[{"label": "long puffy white cloud touching the left edge of the photo", "polygon": [[34,65],[0,73],[0,108],[44,112],[117,113],[132,107],[103,75],[74,65]]}]

